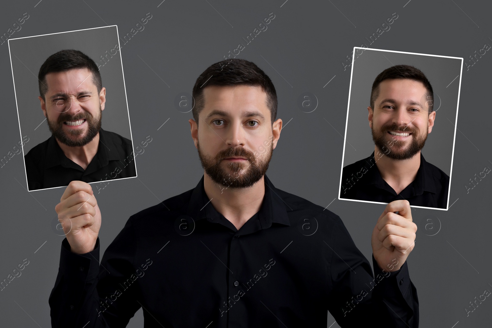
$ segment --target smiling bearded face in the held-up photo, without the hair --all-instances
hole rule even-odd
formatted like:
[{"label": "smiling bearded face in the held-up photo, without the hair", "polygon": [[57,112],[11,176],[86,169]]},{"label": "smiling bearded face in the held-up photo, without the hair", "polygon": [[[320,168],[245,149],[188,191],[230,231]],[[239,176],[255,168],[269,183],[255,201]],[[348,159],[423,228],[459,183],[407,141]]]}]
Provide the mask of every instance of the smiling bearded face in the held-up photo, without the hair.
[{"label": "smiling bearded face in the held-up photo, without the hair", "polygon": [[382,81],[374,108],[368,110],[374,145],[396,160],[419,153],[434,125],[435,112],[429,114],[427,89],[415,80]]}]

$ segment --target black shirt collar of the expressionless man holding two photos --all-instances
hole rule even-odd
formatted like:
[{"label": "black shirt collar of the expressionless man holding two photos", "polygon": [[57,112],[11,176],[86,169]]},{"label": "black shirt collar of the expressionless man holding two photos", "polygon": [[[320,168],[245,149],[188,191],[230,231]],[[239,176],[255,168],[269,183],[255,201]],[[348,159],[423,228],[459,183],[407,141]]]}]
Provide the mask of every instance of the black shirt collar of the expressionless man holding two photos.
[{"label": "black shirt collar of the expressionless man holding two photos", "polygon": [[[209,222],[217,222],[219,214],[210,203],[204,187],[205,175],[191,193],[191,198],[188,204],[186,215],[192,217],[195,221],[207,219]],[[285,209],[284,201],[278,196],[278,189],[264,175],[265,196],[261,204],[260,210],[251,218],[260,221],[261,229],[267,229],[272,226],[272,223],[279,223],[285,226],[290,226],[287,210]]]}]

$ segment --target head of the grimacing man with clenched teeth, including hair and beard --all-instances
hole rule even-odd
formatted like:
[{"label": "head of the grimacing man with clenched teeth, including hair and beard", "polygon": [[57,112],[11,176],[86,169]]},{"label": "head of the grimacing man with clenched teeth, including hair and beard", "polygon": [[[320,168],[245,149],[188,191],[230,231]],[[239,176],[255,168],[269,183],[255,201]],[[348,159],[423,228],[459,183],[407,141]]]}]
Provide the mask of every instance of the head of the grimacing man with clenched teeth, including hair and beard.
[{"label": "head of the grimacing man with clenched teeth, including hair and beard", "polygon": [[95,62],[78,50],[61,50],[39,69],[41,109],[51,133],[70,147],[87,145],[101,128],[106,89]]}]

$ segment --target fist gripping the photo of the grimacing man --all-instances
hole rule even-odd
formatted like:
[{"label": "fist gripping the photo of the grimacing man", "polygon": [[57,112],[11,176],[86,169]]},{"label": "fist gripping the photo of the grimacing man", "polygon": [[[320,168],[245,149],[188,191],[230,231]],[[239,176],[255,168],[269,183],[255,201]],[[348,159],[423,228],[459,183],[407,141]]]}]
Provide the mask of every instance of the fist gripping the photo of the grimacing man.
[{"label": "fist gripping the photo of the grimacing man", "polygon": [[76,254],[94,250],[101,227],[101,212],[91,185],[83,181],[71,181],[55,210],[70,250]]}]

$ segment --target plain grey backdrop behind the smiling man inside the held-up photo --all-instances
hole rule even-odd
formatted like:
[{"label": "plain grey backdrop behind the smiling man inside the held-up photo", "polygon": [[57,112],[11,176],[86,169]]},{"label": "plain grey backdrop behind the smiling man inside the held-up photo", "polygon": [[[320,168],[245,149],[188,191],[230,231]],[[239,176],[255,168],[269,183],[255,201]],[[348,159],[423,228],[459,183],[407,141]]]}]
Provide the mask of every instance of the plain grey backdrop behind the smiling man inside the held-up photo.
[{"label": "plain grey backdrop behind the smiling man inside the held-up photo", "polygon": [[[396,22],[398,22],[398,19]],[[361,51],[359,50],[357,53],[361,53]],[[445,54],[435,55],[446,56]],[[427,137],[426,145],[422,149],[422,154],[426,161],[434,164],[450,176],[455,134],[454,125],[456,125],[458,90],[460,87],[460,77],[458,75],[461,75],[461,59],[400,54],[378,50],[364,50],[362,55],[354,60],[343,166],[366,158],[374,151],[367,110],[372,83],[383,70],[399,64],[417,67],[424,72],[429,82],[431,82],[434,92],[433,109],[436,112],[436,117],[432,131]],[[453,81],[457,76],[458,78]],[[453,83],[450,84],[451,81]]]}]

